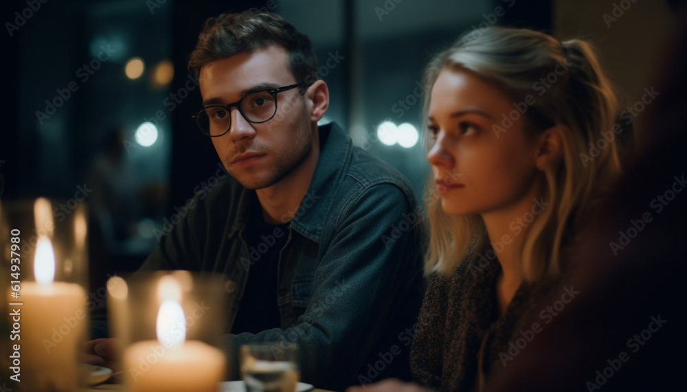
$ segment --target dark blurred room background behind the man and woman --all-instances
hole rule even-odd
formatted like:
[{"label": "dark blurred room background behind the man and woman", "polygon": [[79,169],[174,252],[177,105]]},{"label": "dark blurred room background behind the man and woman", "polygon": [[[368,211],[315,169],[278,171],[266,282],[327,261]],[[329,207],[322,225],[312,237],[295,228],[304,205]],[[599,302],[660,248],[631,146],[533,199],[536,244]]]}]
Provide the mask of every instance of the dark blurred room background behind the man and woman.
[{"label": "dark blurred room background behind the man and woman", "polygon": [[[186,61],[201,25],[209,16],[252,7],[279,12],[311,36],[320,65],[330,56],[343,57],[335,67],[321,68],[331,93],[326,122],[341,124],[354,143],[398,168],[419,196],[429,170],[423,146],[386,146],[376,127],[390,119],[419,128],[414,90],[433,52],[485,22],[532,27],[557,38],[583,36],[598,44],[622,102],[631,104],[649,87],[653,58],[673,23],[671,8],[638,1],[608,25],[603,15],[612,14],[613,3],[618,1],[5,1],[3,197],[70,198],[78,186],[92,187],[89,181],[102,173],[94,162],[104,159],[107,136],[122,129],[117,145],[128,171],[117,175],[132,189],[135,216],[124,236],[113,236],[106,219],[91,216],[91,286],[101,286],[106,273],[135,268],[157,245],[155,229],[214,175],[219,162],[190,117],[201,99]],[[498,6],[506,10],[503,16],[493,15]],[[131,80],[124,66],[135,57],[145,70]],[[172,63],[174,76],[158,85],[151,80],[163,61]],[[54,113],[46,100],[59,106]],[[401,102],[407,105],[403,111]],[[147,147],[135,132],[146,121],[158,134]],[[86,202],[94,205],[108,193],[104,185],[95,187]]]}]

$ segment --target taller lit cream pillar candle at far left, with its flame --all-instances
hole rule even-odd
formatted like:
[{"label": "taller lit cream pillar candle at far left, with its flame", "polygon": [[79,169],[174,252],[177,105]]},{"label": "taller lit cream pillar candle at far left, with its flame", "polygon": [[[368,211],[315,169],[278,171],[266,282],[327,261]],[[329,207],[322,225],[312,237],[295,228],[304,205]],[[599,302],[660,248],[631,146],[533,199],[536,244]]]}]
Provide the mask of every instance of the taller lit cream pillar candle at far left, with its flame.
[{"label": "taller lit cream pillar candle at far left, with its flame", "polygon": [[[27,391],[74,391],[78,354],[87,324],[81,286],[53,281],[55,254],[44,236],[36,243],[36,281],[21,285],[21,358]],[[30,386],[30,387],[28,387]]]}]

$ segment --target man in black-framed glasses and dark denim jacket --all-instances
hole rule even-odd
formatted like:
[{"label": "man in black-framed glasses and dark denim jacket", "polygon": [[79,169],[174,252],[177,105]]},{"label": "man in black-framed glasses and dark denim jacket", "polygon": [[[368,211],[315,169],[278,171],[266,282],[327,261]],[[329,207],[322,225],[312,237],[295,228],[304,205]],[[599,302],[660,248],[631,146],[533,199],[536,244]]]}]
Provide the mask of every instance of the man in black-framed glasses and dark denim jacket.
[{"label": "man in black-framed glasses and dark denim jacket", "polygon": [[203,96],[196,125],[231,177],[142,270],[228,277],[234,376],[240,345],[275,342],[296,343],[302,380],[319,388],[408,379],[421,210],[401,174],[336,124],[317,126],[329,93],[309,39],[276,14],[223,14],[205,22],[189,68]]}]

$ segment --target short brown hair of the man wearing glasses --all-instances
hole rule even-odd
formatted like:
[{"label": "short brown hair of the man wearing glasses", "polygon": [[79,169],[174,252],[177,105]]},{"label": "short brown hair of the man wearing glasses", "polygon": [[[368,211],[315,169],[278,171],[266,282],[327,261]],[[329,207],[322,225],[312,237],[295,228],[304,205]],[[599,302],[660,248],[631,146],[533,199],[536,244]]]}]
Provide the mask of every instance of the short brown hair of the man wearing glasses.
[{"label": "short brown hair of the man wearing glasses", "polygon": [[310,38],[297,32],[282,16],[256,9],[207,19],[191,52],[188,69],[198,76],[208,62],[250,53],[267,45],[286,49],[296,82],[317,80],[317,57]]}]

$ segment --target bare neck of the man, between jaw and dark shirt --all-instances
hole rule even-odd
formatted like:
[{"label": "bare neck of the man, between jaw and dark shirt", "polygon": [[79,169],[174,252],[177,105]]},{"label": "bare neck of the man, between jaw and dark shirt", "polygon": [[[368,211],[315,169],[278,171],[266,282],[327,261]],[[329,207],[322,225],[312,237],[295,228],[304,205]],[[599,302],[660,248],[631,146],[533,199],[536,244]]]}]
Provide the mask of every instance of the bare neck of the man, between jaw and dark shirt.
[{"label": "bare neck of the man, between jaw and dark shirt", "polygon": [[256,191],[265,222],[280,224],[293,219],[313,181],[319,152],[319,134],[315,130],[308,156],[278,183]]}]

